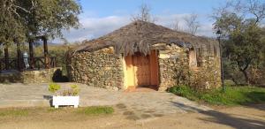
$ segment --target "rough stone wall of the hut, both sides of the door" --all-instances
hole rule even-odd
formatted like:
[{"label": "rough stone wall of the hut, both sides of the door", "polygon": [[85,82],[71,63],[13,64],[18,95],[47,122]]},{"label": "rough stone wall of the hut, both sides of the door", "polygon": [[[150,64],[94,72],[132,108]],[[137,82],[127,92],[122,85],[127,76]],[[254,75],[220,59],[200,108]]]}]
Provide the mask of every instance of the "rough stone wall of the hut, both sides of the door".
[{"label": "rough stone wall of the hut, both sides of the door", "polygon": [[[202,51],[201,65],[194,69],[189,65],[189,49],[165,43],[155,44],[151,49],[158,50],[159,54],[159,90],[177,85],[198,89],[221,86],[220,58],[211,52]],[[124,88],[123,57],[115,56],[112,47],[77,52],[67,64],[72,81],[114,90]]]}]

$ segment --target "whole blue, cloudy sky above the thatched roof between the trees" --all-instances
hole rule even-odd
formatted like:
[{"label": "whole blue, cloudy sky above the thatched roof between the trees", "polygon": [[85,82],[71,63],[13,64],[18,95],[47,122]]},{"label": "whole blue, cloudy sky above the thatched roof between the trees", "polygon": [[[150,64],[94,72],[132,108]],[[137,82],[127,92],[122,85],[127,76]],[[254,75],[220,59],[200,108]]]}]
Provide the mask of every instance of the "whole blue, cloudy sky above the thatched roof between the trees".
[{"label": "whole blue, cloudy sky above the thatched roof between the trees", "polygon": [[[201,27],[197,35],[214,36],[213,8],[225,4],[227,0],[79,0],[82,13],[79,15],[79,29],[64,31],[68,42],[82,42],[108,34],[132,22],[141,4],[148,4],[155,24],[171,27],[176,21],[180,29],[186,30],[184,18],[196,13]],[[53,42],[63,43],[56,39]]]}]

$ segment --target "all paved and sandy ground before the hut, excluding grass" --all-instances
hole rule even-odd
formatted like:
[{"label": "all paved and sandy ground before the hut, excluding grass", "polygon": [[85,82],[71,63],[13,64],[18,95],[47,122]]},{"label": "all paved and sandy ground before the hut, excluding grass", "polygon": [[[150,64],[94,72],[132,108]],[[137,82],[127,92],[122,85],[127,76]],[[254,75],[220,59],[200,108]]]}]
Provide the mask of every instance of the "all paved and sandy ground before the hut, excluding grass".
[{"label": "all paved and sandy ground before the hut, excluding grass", "polygon": [[[70,83],[64,84],[70,85]],[[80,85],[80,106],[112,105],[113,115],[71,118],[37,114],[0,120],[0,129],[46,128],[265,128],[265,104],[210,110],[165,92],[114,92]],[[0,85],[0,108],[49,106],[47,84]],[[64,114],[67,116],[67,113]],[[15,122],[14,122],[15,121]]]}]

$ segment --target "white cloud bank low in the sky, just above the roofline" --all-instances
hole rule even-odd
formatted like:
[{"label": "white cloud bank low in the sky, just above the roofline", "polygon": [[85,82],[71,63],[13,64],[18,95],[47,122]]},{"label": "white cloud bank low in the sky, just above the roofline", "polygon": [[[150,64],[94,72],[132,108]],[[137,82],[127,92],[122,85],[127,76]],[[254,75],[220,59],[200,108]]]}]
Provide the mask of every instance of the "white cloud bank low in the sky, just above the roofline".
[{"label": "white cloud bank low in the sky, just above the roofline", "polygon": [[[184,18],[188,14],[170,14],[156,16],[155,24],[162,25],[164,27],[171,27],[172,24],[178,20],[178,26],[180,29],[185,30],[186,25]],[[100,37],[104,34],[108,34],[119,27],[123,27],[131,22],[130,16],[109,16],[105,18],[80,18],[81,27],[79,29],[71,29],[64,32],[64,38],[69,42],[81,42],[84,40],[91,40]],[[212,24],[201,21],[201,27],[198,30],[198,35],[213,36]],[[60,42],[56,39],[53,42]]]}]

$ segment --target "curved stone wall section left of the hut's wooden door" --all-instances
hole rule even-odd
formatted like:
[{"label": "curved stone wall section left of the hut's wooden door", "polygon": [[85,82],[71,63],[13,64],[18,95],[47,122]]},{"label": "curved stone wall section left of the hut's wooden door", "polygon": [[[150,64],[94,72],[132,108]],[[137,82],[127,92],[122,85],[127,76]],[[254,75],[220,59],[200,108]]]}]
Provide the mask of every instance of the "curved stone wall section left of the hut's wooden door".
[{"label": "curved stone wall section left of the hut's wooden door", "polygon": [[67,65],[69,79],[92,87],[114,90],[123,88],[122,57],[114,54],[113,47],[93,52],[78,52]]}]

